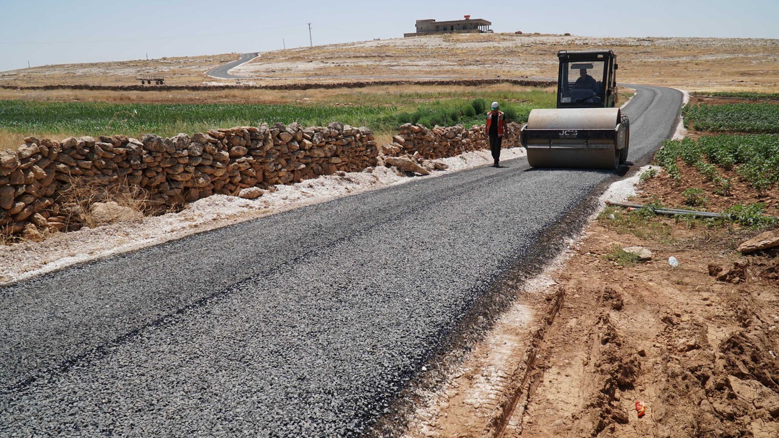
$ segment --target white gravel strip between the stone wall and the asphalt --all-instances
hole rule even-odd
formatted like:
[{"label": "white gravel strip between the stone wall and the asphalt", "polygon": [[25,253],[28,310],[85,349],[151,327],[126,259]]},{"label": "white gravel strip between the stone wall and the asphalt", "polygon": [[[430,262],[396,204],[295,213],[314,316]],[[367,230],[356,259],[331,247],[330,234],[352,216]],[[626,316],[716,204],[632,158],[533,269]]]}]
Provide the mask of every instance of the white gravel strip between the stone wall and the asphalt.
[{"label": "white gravel strip between the stone wall and the asphalt", "polygon": [[[503,160],[521,156],[525,156],[523,148],[503,149],[501,153]],[[371,173],[344,173],[277,186],[277,191],[254,200],[215,194],[192,202],[182,212],[146,217],[138,223],[115,223],[58,233],[43,242],[0,246],[0,285],[305,205],[485,166],[492,163],[492,156],[489,150],[481,150],[440,161],[449,169],[428,177],[400,177],[387,167],[376,167]]]}]

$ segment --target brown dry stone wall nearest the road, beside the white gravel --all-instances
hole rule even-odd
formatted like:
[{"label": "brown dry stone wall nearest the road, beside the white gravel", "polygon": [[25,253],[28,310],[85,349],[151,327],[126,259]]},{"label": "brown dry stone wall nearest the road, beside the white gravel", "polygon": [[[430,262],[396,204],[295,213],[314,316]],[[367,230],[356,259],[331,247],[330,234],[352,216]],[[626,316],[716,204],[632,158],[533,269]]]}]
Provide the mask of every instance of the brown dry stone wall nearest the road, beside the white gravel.
[{"label": "brown dry stone wall nearest the road, beside the white gravel", "polygon": [[[509,124],[504,147],[518,145],[519,128]],[[379,152],[370,129],[340,122],[311,128],[262,124],[191,137],[149,134],[140,140],[125,135],[61,142],[29,137],[18,150],[0,152],[0,231],[34,235],[38,230],[77,229],[84,225],[76,220],[84,208],[91,206],[99,216],[91,201],[100,201],[100,211],[107,210],[102,216],[122,215],[110,196],[98,196],[85,206],[65,195],[84,184],[133,187],[137,191],[125,193],[142,197],[145,205],[171,206],[212,194],[256,198],[275,184],[361,171],[377,163],[390,166],[392,159],[402,170],[427,174],[445,168],[431,159],[488,148],[483,126],[428,129],[404,124],[393,139]]]}]

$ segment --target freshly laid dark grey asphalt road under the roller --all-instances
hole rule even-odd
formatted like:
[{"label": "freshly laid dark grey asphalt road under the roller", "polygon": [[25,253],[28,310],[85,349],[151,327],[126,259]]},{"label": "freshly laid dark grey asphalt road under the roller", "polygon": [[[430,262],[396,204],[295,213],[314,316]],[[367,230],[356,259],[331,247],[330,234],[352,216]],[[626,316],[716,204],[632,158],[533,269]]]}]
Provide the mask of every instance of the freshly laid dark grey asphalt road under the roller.
[{"label": "freshly laid dark grey asphalt road under the roller", "polygon": [[[636,88],[641,162],[682,95]],[[358,435],[476,300],[550,257],[545,231],[619,178],[505,165],[0,289],[0,436]]]}]

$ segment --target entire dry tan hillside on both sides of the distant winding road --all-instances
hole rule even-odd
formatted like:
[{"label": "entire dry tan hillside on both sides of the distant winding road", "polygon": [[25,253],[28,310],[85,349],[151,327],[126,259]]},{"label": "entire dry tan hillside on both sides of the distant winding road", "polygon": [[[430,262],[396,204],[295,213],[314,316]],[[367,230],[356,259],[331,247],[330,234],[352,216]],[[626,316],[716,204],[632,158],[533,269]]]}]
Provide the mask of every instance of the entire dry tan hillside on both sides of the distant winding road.
[{"label": "entire dry tan hillside on both sides of the distant winding road", "polygon": [[[264,52],[234,68],[257,85],[332,82],[327,76],[447,76],[495,79],[556,77],[558,50],[610,48],[619,80],[696,89],[779,90],[779,40],[689,37],[578,37],[462,33],[394,38]],[[234,84],[205,75],[238,54],[153,61],[51,65],[0,72],[0,85],[132,85],[136,75],[158,72],[171,85]]]}]

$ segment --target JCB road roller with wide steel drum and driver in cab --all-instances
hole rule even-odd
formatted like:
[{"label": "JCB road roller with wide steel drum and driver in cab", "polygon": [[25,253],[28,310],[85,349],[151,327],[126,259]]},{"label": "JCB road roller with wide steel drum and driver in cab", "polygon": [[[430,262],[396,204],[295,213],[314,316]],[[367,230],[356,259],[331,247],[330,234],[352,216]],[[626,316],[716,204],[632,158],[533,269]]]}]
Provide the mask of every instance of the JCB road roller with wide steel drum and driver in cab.
[{"label": "JCB road roller with wide steel drum and driver in cab", "polygon": [[619,168],[628,157],[630,124],[615,107],[612,51],[559,51],[557,109],[532,110],[520,132],[533,167]]}]

